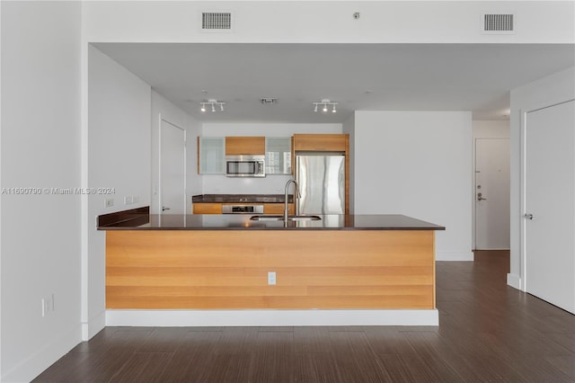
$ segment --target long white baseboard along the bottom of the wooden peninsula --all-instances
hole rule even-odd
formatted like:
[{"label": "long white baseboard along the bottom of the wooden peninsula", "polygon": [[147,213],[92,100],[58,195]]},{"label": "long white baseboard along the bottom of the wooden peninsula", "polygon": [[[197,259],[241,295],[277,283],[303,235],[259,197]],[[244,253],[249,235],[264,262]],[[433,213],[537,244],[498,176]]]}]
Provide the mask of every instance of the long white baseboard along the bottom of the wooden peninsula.
[{"label": "long white baseboard along the bottom of the wooden peninsula", "polygon": [[106,310],[106,325],[277,326],[439,325],[437,309]]}]

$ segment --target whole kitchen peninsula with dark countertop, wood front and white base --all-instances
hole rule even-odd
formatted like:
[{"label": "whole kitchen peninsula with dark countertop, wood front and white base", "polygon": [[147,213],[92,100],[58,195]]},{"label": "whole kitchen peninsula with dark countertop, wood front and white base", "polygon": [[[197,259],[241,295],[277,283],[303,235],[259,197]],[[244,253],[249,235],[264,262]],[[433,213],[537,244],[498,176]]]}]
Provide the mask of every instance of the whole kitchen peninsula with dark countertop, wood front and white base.
[{"label": "whole kitchen peninsula with dark countertop, wood front and white base", "polygon": [[99,218],[109,325],[438,325],[435,230],[401,215]]}]

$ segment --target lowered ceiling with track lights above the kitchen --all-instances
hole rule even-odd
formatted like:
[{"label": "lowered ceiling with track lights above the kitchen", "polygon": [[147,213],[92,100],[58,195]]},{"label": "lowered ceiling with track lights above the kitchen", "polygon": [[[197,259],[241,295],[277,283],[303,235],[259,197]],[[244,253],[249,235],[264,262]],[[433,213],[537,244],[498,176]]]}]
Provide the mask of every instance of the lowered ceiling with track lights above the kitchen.
[{"label": "lowered ceiling with track lights above the kitchen", "polygon": [[[501,120],[511,89],[575,65],[572,44],[93,45],[203,122],[332,123],[352,111],[405,110]],[[226,111],[199,111],[208,99]],[[338,112],[314,112],[322,99]]]}]

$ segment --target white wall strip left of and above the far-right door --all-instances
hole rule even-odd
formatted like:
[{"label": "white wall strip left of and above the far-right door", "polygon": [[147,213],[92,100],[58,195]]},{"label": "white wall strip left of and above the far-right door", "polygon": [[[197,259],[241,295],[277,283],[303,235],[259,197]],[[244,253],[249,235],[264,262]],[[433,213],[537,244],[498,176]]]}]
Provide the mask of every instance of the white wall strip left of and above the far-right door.
[{"label": "white wall strip left of and above the far-right door", "polygon": [[516,289],[524,289],[522,282],[521,257],[522,243],[521,225],[523,223],[523,175],[521,168],[521,127],[523,113],[534,111],[555,103],[575,99],[575,67],[568,68],[552,76],[546,76],[533,83],[520,86],[511,91],[511,251],[510,272],[508,284]]}]

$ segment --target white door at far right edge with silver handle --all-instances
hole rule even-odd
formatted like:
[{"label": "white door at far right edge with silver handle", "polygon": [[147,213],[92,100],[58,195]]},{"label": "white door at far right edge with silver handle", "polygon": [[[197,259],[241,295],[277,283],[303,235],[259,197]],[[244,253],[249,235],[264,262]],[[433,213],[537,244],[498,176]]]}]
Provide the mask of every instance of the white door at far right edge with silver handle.
[{"label": "white door at far right edge with silver handle", "polygon": [[575,102],[526,113],[526,291],[575,313]]}]

